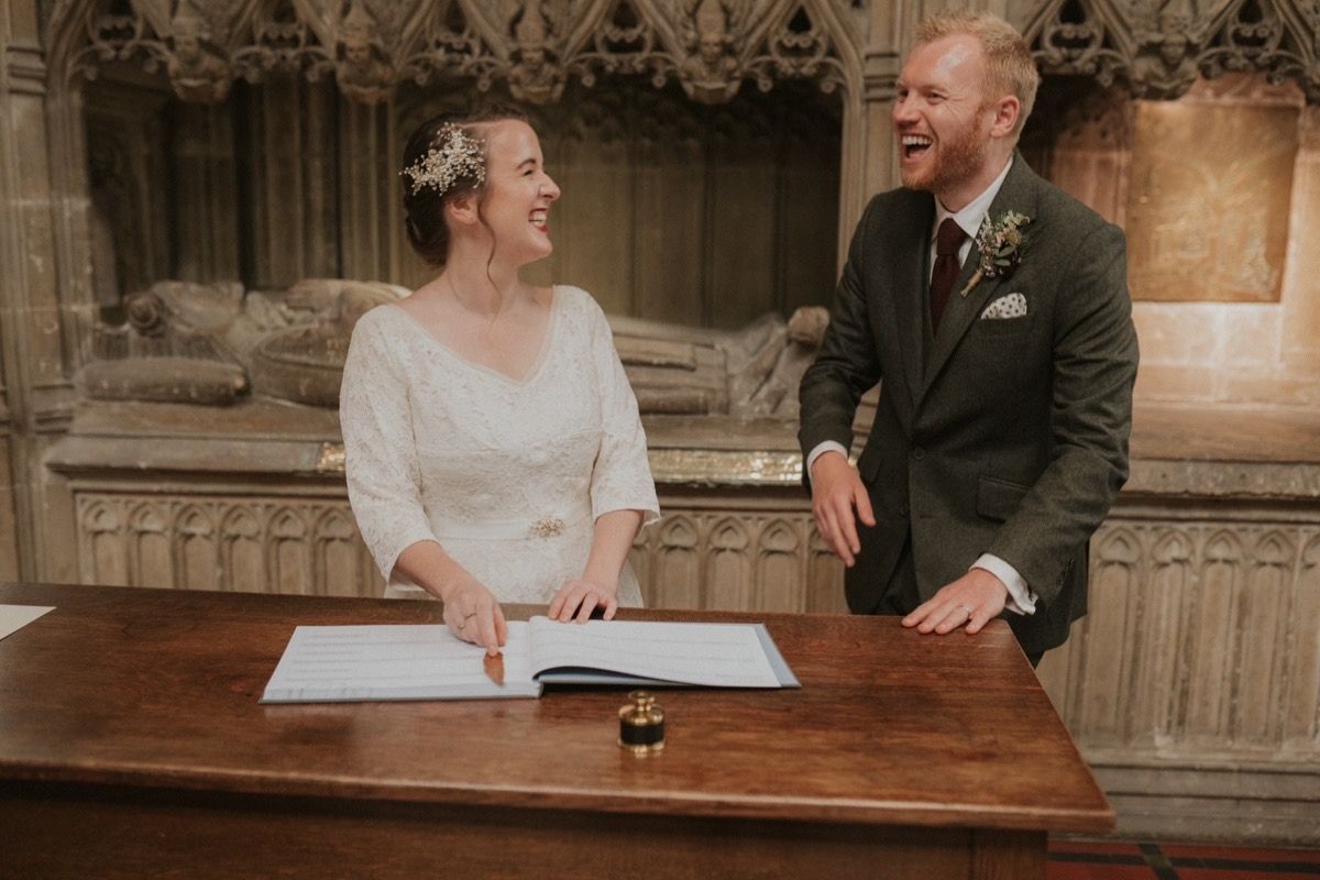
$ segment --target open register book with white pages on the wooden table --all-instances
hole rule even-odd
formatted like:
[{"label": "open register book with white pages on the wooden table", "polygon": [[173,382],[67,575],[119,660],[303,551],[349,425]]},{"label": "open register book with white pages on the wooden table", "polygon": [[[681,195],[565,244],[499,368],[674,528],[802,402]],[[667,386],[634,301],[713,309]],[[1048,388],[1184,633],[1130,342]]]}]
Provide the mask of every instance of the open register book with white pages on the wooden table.
[{"label": "open register book with white pages on the wooden table", "polygon": [[764,624],[510,621],[504,683],[442,625],[298,627],[263,703],[540,697],[544,683],[797,687]]}]

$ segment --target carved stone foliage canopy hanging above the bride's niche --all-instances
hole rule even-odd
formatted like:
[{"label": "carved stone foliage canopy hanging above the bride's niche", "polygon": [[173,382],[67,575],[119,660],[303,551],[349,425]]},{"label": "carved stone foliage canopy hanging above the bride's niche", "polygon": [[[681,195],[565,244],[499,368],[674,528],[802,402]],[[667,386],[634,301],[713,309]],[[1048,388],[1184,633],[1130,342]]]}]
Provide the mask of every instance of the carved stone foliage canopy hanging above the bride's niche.
[{"label": "carved stone foliage canopy hanging above the bride's niche", "polygon": [[333,75],[368,104],[441,78],[480,91],[503,80],[513,98],[549,104],[570,78],[590,87],[619,74],[656,87],[677,77],[694,100],[723,103],[744,80],[858,83],[849,16],[842,0],[66,0],[49,30],[53,75],[140,63],[193,102],[284,70]]}]

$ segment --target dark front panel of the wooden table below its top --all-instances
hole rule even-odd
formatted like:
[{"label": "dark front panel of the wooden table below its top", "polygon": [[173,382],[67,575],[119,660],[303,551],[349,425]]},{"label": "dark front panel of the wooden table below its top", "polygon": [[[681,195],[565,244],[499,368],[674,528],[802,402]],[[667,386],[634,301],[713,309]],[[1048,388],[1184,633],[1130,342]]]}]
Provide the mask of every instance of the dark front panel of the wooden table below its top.
[{"label": "dark front panel of the wooden table below its top", "polygon": [[[128,789],[18,793],[0,784],[0,822],[17,876],[308,877],[719,876],[847,880],[1030,880],[1006,844],[969,833],[803,822],[668,819],[548,810],[215,797]],[[144,834],[150,829],[150,834]],[[998,833],[1015,839],[1018,835]],[[78,846],[69,846],[78,840]],[[978,838],[979,840],[979,838]],[[242,842],[242,846],[235,846]],[[1044,864],[1043,839],[1039,840]],[[995,856],[1001,856],[994,868]],[[1019,871],[1019,872],[1014,872]]]}]

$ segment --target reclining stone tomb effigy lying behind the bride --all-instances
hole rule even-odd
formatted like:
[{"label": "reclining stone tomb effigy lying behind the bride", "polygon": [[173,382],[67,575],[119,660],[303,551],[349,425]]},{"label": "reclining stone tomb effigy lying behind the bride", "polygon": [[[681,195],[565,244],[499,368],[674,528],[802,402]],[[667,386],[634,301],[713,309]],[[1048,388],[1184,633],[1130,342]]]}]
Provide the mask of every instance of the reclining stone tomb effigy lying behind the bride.
[{"label": "reclining stone tomb effigy lying behind the bride", "polygon": [[[337,406],[354,325],[403,296],[396,285],[337,278],[284,292],[164,281],[125,299],[123,325],[96,329],[79,387],[108,401],[223,406],[263,396]],[[792,421],[828,314],[767,314],[731,331],[610,322],[643,413]]]}]

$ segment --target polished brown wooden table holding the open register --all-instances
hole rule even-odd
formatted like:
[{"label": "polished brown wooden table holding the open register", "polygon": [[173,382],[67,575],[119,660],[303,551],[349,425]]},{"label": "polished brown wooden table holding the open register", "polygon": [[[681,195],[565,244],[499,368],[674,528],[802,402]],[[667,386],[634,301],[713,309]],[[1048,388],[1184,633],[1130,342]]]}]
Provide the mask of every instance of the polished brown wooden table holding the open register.
[{"label": "polished brown wooden table holding the open register", "polygon": [[1113,826],[1002,623],[764,615],[803,687],[660,691],[667,748],[636,759],[616,689],[257,703],[296,624],[440,623],[434,603],[0,603],[55,606],[0,640],[5,876],[1020,880],[1044,877],[1047,831]]}]

